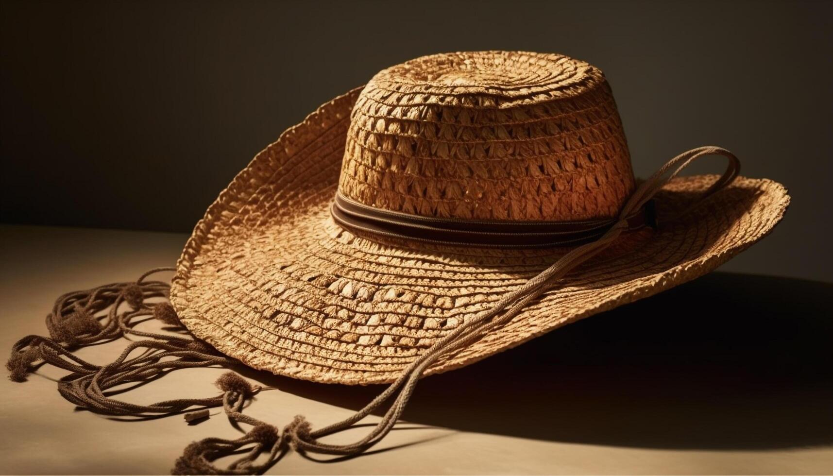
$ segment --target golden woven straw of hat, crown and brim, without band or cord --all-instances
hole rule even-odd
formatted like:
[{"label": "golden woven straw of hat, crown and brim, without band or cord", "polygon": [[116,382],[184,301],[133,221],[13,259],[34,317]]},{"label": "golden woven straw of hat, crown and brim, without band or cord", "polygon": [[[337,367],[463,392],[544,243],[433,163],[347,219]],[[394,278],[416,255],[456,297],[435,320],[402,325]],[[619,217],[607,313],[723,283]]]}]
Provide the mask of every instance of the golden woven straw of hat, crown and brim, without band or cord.
[{"label": "golden woven straw of hat, crown and brim, without band or cord", "polygon": [[[766,236],[789,203],[779,183],[737,178],[663,223],[715,178],[673,180],[656,198],[660,228],[626,234],[427,373],[708,273]],[[614,216],[634,180],[598,69],[539,53],[417,58],[318,108],[220,194],[172,282],[187,328],[253,368],[386,383],[566,253],[356,235],[330,217],[339,187],[425,216],[571,220]]]}]

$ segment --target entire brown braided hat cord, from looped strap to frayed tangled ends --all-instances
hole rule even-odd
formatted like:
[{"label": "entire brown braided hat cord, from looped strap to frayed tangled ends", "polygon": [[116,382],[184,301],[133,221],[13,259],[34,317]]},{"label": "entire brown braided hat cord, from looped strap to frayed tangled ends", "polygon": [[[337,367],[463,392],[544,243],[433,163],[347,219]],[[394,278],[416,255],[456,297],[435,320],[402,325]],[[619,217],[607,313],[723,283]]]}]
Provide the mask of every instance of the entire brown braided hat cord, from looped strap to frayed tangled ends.
[{"label": "entire brown braided hat cord, from looped strap to frayed tangled ends", "polygon": [[[246,423],[252,428],[241,438],[205,438],[191,443],[172,469],[175,474],[256,474],[262,473],[276,463],[290,448],[300,452],[352,455],[362,453],[384,438],[402,415],[419,378],[440,358],[481,338],[492,329],[498,328],[515,318],[527,304],[551,288],[551,284],[566,273],[585,263],[616,241],[629,228],[628,218],[653,198],[672,178],[697,158],[705,155],[721,155],[729,159],[729,165],[721,178],[706,189],[701,197],[691,203],[676,218],[681,218],[712,193],[725,188],[737,176],[740,162],[734,154],[724,148],[701,147],[672,158],[651,178],[641,183],[621,208],[618,218],[601,237],[582,244],[564,254],[549,268],[531,278],[521,287],[506,293],[495,305],[462,323],[445,337],[422,353],[384,392],[374,398],[366,407],[351,417],[324,428],[312,429],[306,418],[297,416],[286,427],[277,427],[257,418],[244,415],[242,408],[262,388],[252,387],[235,373],[226,373],[217,380],[222,395],[210,398],[183,398],[167,400],[151,405],[137,405],[110,398],[105,391],[124,383],[142,383],[160,377],[177,368],[210,367],[221,365],[232,367],[237,361],[227,358],[207,344],[188,336],[146,333],[137,331],[132,318],[152,314],[169,325],[186,329],[168,303],[158,303],[157,298],[167,297],[169,285],[158,281],[145,281],[147,274],[172,268],[158,268],[142,275],[135,283],[107,284],[89,291],[64,294],[57,299],[52,313],[47,316],[47,328],[52,338],[27,336],[12,348],[7,369],[13,380],[22,381],[32,372],[37,361],[51,363],[69,370],[67,377],[58,383],[58,389],[70,402],[97,413],[110,415],[131,415],[136,417],[165,416],[186,413],[188,422],[207,418],[207,408],[222,406],[232,423]],[[667,218],[664,218],[667,221]],[[147,302],[152,299],[152,302]],[[127,306],[121,306],[127,303]],[[124,308],[128,309],[125,310]],[[106,315],[96,316],[106,309]],[[120,311],[121,309],[121,311]],[[73,350],[85,345],[100,343],[102,340],[123,337],[126,334],[145,337],[127,346],[122,355],[113,363],[98,366],[88,363],[72,354]],[[128,358],[133,350],[145,351],[134,358]],[[390,408],[370,433],[351,444],[324,443],[319,438],[337,433],[370,415],[388,399],[394,398]],[[244,447],[251,449],[227,468],[217,468],[214,460],[222,456],[239,453]],[[257,459],[266,453],[261,462]]]}]

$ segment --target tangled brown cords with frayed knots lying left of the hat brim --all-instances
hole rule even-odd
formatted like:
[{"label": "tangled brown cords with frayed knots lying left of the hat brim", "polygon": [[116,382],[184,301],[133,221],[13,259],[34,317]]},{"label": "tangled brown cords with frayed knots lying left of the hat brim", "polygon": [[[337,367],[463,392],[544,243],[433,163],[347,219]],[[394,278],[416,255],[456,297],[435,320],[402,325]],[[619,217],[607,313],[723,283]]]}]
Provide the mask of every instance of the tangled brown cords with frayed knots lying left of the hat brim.
[{"label": "tangled brown cords with frayed knots lying left of the hat brim", "polygon": [[[224,394],[209,398],[178,398],[138,405],[107,395],[119,385],[146,382],[177,368],[228,367],[237,363],[197,339],[133,328],[133,319],[147,315],[182,328],[170,303],[147,302],[148,299],[167,298],[170,288],[168,283],[147,281],[147,276],[170,270],[172,268],[157,268],[143,274],[135,283],[106,284],[57,298],[52,313],[47,315],[50,337],[27,336],[12,346],[12,354],[6,363],[9,378],[24,381],[37,361],[62,368],[70,372],[57,384],[62,397],[78,407],[108,415],[138,417],[178,413],[192,407],[218,407],[229,395],[239,401],[239,408],[242,408],[242,402],[252,398],[257,390],[236,374],[232,374],[233,377],[226,375],[222,385],[218,383]],[[124,310],[122,303],[130,309]],[[100,313],[104,314],[96,317]],[[72,353],[77,348],[128,334],[144,339],[129,343],[122,354],[107,365],[87,362]],[[138,355],[134,356],[135,353]]]}]

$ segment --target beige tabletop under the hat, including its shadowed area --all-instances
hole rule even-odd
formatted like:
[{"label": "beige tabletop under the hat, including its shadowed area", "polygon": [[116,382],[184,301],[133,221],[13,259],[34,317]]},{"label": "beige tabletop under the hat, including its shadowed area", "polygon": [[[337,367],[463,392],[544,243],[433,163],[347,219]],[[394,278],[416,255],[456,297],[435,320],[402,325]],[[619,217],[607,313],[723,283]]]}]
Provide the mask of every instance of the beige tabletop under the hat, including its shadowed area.
[{"label": "beige tabletop under the hat, including its shadowed area", "polygon": [[[185,238],[0,227],[2,348],[45,333],[60,293],[170,265]],[[291,453],[269,473],[831,473],[830,295],[829,284],[712,273],[426,378],[407,422],[370,454],[323,463]],[[81,355],[104,363],[121,346]],[[214,395],[220,373],[177,371],[124,398]],[[2,379],[0,472],[167,473],[192,440],[236,434],[222,415],[188,426],[75,410],[51,380],[61,375]],[[297,413],[331,423],[380,390],[246,376],[280,388],[247,409],[280,425]]]}]

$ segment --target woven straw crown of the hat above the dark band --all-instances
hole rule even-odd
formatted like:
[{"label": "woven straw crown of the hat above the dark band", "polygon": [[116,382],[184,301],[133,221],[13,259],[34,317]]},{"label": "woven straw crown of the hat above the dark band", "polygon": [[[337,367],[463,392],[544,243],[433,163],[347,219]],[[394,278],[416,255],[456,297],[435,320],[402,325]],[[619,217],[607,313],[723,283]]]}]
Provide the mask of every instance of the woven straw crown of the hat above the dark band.
[{"label": "woven straw crown of the hat above the dark band", "polygon": [[387,68],[352,110],[339,180],[436,218],[612,218],[634,188],[604,75],[558,54],[437,54]]}]

